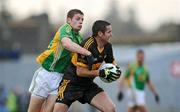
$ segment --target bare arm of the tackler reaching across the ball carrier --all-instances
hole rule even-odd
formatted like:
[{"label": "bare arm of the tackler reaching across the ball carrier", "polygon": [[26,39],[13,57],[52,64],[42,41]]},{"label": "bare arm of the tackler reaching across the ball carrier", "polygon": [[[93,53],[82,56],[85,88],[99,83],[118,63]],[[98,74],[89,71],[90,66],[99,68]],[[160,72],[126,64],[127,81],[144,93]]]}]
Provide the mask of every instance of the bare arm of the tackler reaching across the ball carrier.
[{"label": "bare arm of the tackler reaching across the ball carrier", "polygon": [[64,38],[61,42],[62,46],[71,52],[79,53],[86,56],[91,54],[90,51],[71,41],[69,38]]}]

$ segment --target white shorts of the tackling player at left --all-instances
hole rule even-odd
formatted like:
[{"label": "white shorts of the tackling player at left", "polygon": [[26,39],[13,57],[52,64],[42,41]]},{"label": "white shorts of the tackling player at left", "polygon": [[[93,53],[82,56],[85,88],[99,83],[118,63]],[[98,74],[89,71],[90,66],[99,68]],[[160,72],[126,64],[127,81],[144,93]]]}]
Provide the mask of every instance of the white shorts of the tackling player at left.
[{"label": "white shorts of the tackling player at left", "polygon": [[47,98],[48,95],[57,95],[62,77],[62,73],[49,72],[41,67],[34,73],[29,92],[32,96],[43,98]]}]

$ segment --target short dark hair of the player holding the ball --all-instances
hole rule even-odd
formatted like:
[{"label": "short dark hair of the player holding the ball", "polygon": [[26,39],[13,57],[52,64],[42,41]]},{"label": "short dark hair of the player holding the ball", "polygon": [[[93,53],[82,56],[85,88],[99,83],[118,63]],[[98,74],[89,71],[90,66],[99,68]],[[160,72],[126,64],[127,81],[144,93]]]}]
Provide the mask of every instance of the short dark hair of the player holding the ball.
[{"label": "short dark hair of the player holding the ball", "polygon": [[111,25],[111,24],[107,21],[103,21],[103,20],[95,21],[93,24],[93,27],[92,27],[92,36],[96,37],[98,35],[99,31],[104,33],[107,30],[106,26],[109,26],[109,25]]}]

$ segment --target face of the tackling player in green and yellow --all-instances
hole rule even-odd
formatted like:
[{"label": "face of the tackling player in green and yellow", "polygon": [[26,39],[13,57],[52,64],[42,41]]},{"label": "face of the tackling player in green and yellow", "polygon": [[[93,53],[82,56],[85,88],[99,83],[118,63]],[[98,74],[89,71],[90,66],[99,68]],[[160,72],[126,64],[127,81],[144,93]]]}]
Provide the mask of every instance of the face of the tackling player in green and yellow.
[{"label": "face of the tackling player in green and yellow", "polygon": [[72,26],[75,31],[79,31],[82,28],[84,16],[81,14],[75,14],[73,18],[68,18],[68,23]]}]

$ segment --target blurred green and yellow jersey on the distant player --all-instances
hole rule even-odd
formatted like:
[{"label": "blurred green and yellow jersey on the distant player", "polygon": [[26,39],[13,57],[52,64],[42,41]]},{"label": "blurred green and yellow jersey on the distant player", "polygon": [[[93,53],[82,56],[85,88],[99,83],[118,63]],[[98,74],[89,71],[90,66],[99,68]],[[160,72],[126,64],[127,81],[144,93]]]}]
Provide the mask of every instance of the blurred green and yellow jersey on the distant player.
[{"label": "blurred green and yellow jersey on the distant player", "polygon": [[149,81],[149,72],[145,66],[139,66],[137,63],[130,64],[125,73],[125,78],[130,87],[144,90]]}]

